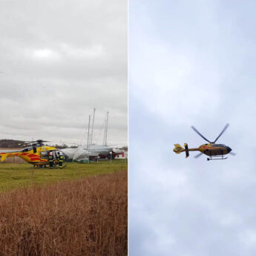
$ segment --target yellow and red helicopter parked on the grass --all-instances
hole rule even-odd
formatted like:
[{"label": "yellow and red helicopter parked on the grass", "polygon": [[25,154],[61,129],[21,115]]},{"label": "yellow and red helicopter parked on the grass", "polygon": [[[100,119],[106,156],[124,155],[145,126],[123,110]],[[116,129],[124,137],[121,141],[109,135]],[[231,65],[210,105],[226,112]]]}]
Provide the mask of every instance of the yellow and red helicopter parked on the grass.
[{"label": "yellow and red helicopter parked on the grass", "polygon": [[[50,151],[53,153],[53,159],[57,163],[58,153],[61,153],[59,149],[45,145],[45,140],[27,141],[20,143],[19,145],[29,145],[26,148],[18,150],[4,150],[0,153],[1,162],[7,157],[21,157],[27,163],[33,165],[34,168],[47,168],[49,165],[48,154]],[[62,152],[63,154],[63,152]],[[64,157],[66,158],[65,154]],[[66,165],[63,165],[63,168]]]}]

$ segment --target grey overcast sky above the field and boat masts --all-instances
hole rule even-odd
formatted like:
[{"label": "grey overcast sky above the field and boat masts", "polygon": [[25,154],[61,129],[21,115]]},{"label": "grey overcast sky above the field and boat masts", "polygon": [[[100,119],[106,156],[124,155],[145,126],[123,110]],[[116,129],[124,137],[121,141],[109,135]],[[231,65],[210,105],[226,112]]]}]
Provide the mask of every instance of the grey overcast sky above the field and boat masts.
[{"label": "grey overcast sky above the field and boat masts", "polygon": [[0,0],[0,139],[127,144],[127,1]]}]

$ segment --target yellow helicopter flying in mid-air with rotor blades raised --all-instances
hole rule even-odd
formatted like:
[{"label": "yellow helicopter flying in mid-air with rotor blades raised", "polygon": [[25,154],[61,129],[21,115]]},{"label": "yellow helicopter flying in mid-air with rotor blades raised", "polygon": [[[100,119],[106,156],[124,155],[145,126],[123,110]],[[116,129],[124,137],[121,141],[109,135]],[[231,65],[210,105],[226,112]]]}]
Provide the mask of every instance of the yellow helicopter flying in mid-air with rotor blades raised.
[{"label": "yellow helicopter flying in mid-air with rotor blades raised", "polygon": [[174,144],[174,152],[176,154],[180,154],[181,152],[186,152],[186,157],[189,156],[188,151],[200,151],[200,154],[197,154],[195,158],[200,157],[202,154],[206,154],[207,160],[224,160],[227,159],[228,157],[224,157],[226,154],[232,154],[235,155],[229,146],[224,145],[224,144],[215,144],[215,142],[220,138],[220,136],[223,134],[224,131],[226,131],[226,128],[229,127],[229,124],[226,124],[226,126],[223,128],[223,131],[220,132],[220,135],[214,140],[214,142],[210,142],[209,140],[206,139],[206,137],[203,137],[202,134],[200,134],[199,131],[197,131],[194,126],[191,126],[191,128],[198,134],[200,137],[202,137],[204,140],[206,140],[207,144],[200,145],[199,148],[188,148],[188,144],[184,143],[184,148],[180,144]]}]

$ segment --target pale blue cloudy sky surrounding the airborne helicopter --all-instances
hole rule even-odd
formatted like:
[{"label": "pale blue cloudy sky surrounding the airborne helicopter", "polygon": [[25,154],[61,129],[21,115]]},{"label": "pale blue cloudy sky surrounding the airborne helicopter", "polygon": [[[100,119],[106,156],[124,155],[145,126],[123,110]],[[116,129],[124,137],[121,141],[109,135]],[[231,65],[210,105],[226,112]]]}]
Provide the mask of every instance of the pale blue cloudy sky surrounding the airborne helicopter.
[{"label": "pale blue cloudy sky surrounding the airborne helicopter", "polygon": [[[130,255],[255,255],[255,1],[129,1]],[[214,140],[235,157],[174,143]],[[194,154],[193,154],[194,153]]]}]

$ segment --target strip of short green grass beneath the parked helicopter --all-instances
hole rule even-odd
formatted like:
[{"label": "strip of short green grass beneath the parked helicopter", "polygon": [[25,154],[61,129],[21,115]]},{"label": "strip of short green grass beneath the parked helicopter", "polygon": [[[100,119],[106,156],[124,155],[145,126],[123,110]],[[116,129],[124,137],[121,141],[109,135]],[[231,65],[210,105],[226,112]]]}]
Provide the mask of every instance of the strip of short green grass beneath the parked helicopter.
[{"label": "strip of short green grass beneath the parked helicopter", "polygon": [[66,168],[33,168],[28,163],[0,164],[0,191],[73,180],[96,174],[110,174],[127,169],[127,160],[99,161],[99,163],[68,163]]}]

